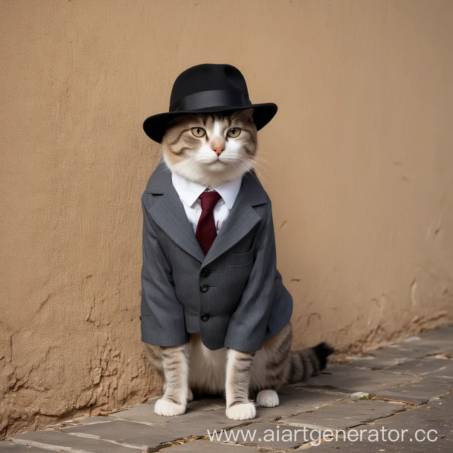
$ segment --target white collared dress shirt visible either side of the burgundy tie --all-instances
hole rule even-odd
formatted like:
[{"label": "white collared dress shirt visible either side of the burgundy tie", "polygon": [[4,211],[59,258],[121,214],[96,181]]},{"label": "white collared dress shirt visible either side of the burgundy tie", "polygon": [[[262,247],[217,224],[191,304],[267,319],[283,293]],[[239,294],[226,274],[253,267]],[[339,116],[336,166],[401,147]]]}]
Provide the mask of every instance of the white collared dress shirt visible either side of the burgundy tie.
[{"label": "white collared dress shirt visible either side of the burgundy tie", "polygon": [[[183,203],[187,218],[192,225],[193,233],[195,234],[197,231],[198,220],[201,216],[201,201],[198,197],[207,189],[207,187],[194,183],[193,181],[189,181],[177,173],[172,173],[171,182],[179,195],[179,199]],[[222,228],[223,222],[225,222],[226,217],[228,217],[228,214],[233,207],[237,194],[239,193],[239,189],[241,188],[241,183],[242,177],[240,176],[239,178],[233,179],[228,183],[221,184],[219,187],[214,189],[222,197],[217,202],[217,205],[213,211],[217,234]]]}]

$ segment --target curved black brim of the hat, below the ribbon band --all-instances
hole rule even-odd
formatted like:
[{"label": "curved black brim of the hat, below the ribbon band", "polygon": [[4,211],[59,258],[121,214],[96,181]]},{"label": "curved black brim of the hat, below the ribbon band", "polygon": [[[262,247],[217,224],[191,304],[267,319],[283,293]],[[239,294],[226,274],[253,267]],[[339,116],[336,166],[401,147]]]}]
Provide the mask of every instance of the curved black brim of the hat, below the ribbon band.
[{"label": "curved black brim of the hat, below the ribbon band", "polygon": [[266,104],[252,104],[250,106],[231,107],[207,107],[198,110],[185,110],[175,112],[158,113],[157,115],[149,116],[143,122],[143,130],[151,140],[162,143],[165,131],[168,128],[169,122],[178,116],[197,114],[197,113],[217,113],[217,112],[232,112],[237,110],[253,109],[253,121],[256,129],[262,129],[277,113],[277,106],[272,102]]}]

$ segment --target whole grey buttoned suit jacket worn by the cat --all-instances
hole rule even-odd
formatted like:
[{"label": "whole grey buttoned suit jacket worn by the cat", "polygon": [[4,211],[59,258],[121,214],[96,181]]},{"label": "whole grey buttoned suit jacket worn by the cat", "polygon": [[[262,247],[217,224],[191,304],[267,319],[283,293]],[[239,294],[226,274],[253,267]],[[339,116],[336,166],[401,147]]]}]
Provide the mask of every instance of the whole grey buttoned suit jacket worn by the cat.
[{"label": "whole grey buttoned suit jacket worn by the cat", "polygon": [[276,268],[270,199],[255,176],[204,256],[164,163],[141,198],[142,341],[177,346],[199,332],[209,349],[257,351],[288,323],[291,295]]}]

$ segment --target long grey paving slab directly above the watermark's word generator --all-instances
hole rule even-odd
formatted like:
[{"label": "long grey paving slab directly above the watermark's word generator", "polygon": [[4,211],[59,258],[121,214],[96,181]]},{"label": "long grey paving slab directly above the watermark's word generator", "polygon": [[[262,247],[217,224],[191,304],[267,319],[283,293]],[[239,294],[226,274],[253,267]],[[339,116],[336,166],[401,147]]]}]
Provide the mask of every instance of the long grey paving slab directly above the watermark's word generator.
[{"label": "long grey paving slab directly above the watermark's word generator", "polygon": [[320,429],[346,429],[371,420],[388,417],[405,405],[386,401],[357,400],[295,415],[284,423]]}]

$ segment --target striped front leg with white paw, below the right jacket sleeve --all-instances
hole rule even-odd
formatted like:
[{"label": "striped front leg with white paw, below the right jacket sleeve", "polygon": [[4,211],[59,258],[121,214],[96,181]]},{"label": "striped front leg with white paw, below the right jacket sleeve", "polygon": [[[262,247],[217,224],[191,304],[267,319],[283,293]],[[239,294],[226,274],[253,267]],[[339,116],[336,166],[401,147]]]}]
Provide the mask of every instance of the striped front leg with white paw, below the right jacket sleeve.
[{"label": "striped front leg with white paw, below the right jacket sleeve", "polygon": [[233,420],[254,419],[256,409],[249,400],[250,373],[255,352],[228,349],[226,355],[226,416]]}]

